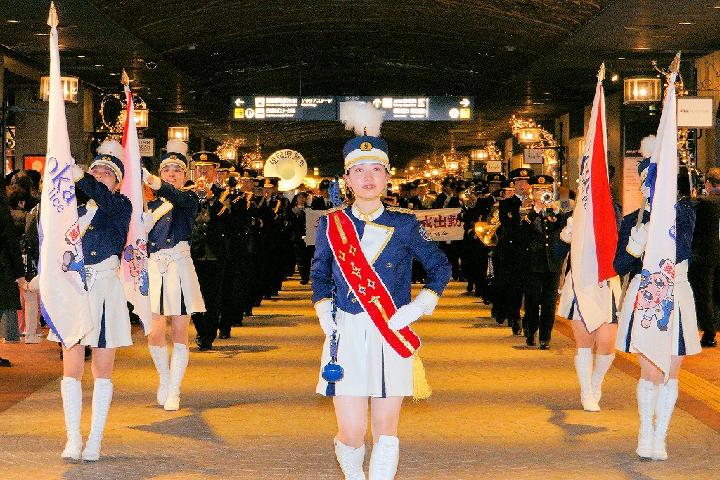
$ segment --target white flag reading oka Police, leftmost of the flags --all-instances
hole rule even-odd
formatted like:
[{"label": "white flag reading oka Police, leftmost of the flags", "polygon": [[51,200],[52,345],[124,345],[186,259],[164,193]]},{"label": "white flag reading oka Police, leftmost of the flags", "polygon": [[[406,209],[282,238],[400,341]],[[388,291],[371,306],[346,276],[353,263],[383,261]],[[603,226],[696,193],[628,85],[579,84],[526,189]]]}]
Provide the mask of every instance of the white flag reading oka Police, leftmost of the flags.
[{"label": "white flag reading oka Police, leftmost of the flags", "polygon": [[[40,200],[40,310],[50,329],[66,347],[92,330],[85,264],[78,223],[68,121],[60,81],[58,14],[50,3],[50,103],[48,151]],[[87,226],[85,226],[86,228]]]}]

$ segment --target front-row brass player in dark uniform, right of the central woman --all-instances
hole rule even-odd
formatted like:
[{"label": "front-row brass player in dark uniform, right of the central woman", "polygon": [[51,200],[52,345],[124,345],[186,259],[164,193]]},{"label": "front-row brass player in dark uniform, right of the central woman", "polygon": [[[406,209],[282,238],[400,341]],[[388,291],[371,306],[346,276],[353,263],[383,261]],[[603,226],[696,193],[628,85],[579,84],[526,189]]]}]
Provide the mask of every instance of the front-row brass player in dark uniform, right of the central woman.
[{"label": "front-row brass player in dark uniform, right of the central woman", "polygon": [[528,334],[525,343],[534,346],[537,333],[540,350],[550,347],[562,270],[562,259],[554,255],[553,249],[567,217],[555,200],[554,182],[555,179],[549,175],[535,175],[528,179],[532,208],[521,221],[526,241],[523,324]]}]

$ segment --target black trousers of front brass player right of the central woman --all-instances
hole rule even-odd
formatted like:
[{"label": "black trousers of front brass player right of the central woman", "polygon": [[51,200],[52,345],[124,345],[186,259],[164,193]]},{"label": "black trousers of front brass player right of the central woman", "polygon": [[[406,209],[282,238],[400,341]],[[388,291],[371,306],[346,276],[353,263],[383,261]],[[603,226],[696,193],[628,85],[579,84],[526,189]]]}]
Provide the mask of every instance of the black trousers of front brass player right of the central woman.
[{"label": "black trousers of front brass player right of the central woman", "polygon": [[539,342],[549,342],[555,323],[560,272],[527,272],[524,277],[523,326],[527,329],[528,338],[534,338],[537,333]]}]

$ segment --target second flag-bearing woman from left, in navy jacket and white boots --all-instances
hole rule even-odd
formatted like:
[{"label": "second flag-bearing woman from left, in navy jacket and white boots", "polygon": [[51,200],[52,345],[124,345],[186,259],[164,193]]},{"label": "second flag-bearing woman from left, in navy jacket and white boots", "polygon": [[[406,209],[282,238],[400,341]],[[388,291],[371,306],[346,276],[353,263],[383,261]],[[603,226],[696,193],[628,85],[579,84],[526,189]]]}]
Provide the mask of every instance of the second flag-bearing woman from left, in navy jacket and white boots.
[{"label": "second flag-bearing woman from left, in navy jacket and white boots", "polygon": [[[168,411],[180,408],[180,384],[189,361],[190,314],[205,311],[190,258],[189,241],[199,200],[193,190],[183,190],[188,178],[186,151],[186,143],[169,141],[168,151],[158,168],[160,177],[143,171],[145,184],[158,197],[148,202],[152,213],[148,273],[153,312],[148,345],[160,377],[158,404]],[[168,355],[166,341],[167,317],[170,317],[173,339],[172,357]]]}]

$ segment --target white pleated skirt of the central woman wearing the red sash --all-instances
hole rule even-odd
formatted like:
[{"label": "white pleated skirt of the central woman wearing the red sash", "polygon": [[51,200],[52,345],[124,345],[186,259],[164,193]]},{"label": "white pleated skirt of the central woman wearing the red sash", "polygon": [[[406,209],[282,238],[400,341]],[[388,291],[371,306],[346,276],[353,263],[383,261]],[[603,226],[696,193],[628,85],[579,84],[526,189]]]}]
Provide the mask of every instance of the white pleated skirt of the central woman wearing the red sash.
[{"label": "white pleated skirt of the central woman wearing the red sash", "polygon": [[[318,375],[317,392],[326,396],[409,396],[413,395],[413,357],[403,358],[387,345],[366,313],[347,314],[338,310],[338,360],[343,379],[328,384]],[[330,338],[325,338],[323,366],[330,362]],[[334,390],[333,390],[334,385]]]}]

